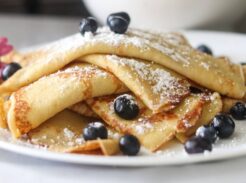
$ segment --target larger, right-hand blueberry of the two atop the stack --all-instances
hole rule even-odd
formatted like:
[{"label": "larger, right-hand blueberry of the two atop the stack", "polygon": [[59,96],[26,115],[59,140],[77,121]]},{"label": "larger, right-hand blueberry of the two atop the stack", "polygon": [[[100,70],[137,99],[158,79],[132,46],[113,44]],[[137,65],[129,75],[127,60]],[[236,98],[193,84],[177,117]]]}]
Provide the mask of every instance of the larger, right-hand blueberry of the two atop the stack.
[{"label": "larger, right-hand blueberry of the two atop the stack", "polygon": [[107,25],[110,30],[118,34],[124,34],[129,24],[130,16],[125,12],[113,13],[107,18]]}]

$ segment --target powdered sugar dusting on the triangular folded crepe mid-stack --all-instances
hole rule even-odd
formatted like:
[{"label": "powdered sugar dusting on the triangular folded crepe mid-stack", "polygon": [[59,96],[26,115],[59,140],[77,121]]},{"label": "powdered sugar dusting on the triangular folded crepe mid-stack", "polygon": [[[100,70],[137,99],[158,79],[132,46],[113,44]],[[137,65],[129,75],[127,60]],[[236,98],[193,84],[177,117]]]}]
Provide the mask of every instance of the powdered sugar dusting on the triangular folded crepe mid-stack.
[{"label": "powdered sugar dusting on the triangular folded crepe mid-stack", "polygon": [[[107,58],[115,64],[128,66],[134,73],[137,74],[142,81],[147,82],[151,86],[151,93],[155,94],[159,99],[159,103],[172,100],[179,100],[179,97],[188,92],[188,83],[181,83],[181,80],[174,77],[170,72],[155,67],[153,63],[137,61],[135,59],[122,58],[116,55],[108,55]],[[132,76],[126,76],[129,79]]]}]

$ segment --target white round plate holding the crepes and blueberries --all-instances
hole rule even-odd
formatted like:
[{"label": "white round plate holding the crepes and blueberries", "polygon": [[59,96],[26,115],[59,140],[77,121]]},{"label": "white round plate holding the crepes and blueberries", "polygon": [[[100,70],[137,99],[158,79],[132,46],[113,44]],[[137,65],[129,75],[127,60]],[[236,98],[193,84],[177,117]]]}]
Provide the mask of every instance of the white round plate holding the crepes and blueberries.
[{"label": "white round plate holding the crepes and blueberries", "polygon": [[[246,61],[246,36],[216,32],[184,32],[194,46],[204,43],[209,45],[216,55],[228,55],[233,61]],[[12,142],[6,131],[0,131],[0,148],[18,154],[42,158],[46,160],[110,166],[157,166],[189,164],[205,161],[215,161],[246,155],[246,121],[236,121],[234,135],[228,140],[219,140],[212,152],[197,155],[187,155],[182,145],[171,144],[162,152],[147,155],[141,151],[139,156],[102,157],[92,155],[76,155],[48,152],[43,149],[28,147],[21,143]]]}]

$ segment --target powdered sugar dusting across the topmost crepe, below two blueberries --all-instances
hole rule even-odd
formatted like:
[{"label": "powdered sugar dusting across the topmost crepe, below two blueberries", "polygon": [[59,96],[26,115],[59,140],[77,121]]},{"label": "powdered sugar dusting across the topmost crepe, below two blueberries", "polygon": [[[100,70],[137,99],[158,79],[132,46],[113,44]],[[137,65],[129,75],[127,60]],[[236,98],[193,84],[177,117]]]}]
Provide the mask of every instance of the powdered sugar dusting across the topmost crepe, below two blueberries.
[{"label": "powdered sugar dusting across the topmost crepe, below two blueberries", "polygon": [[[82,36],[78,33],[54,42],[53,44],[47,45],[43,49],[44,52],[48,53],[45,62],[49,63],[51,60],[54,60],[55,56],[61,57],[68,52],[79,52],[86,45],[97,45],[100,43],[115,47],[120,45],[124,45],[126,47],[133,45],[139,48],[140,51],[146,51],[150,48],[154,48],[169,56],[174,61],[180,62],[186,67],[189,66],[189,62],[194,60],[194,58],[190,55],[190,51],[193,48],[186,41],[184,41],[184,38],[179,34],[155,34],[153,32],[131,28],[125,34],[116,34],[110,31],[108,27],[101,27],[95,34],[86,32],[84,36]],[[195,61],[198,62],[199,60],[200,59],[196,57]]]}]

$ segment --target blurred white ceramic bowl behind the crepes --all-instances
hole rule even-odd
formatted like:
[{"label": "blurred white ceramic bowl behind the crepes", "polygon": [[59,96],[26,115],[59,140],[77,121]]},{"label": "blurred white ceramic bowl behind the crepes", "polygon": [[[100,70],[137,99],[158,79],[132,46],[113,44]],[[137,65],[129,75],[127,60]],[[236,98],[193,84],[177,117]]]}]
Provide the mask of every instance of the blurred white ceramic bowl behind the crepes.
[{"label": "blurred white ceramic bowl behind the crepes", "polygon": [[126,11],[131,26],[177,29],[229,26],[246,11],[245,0],[83,0],[98,20],[105,23],[112,12]]}]

